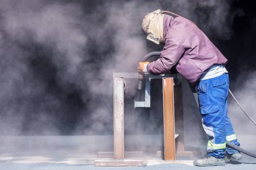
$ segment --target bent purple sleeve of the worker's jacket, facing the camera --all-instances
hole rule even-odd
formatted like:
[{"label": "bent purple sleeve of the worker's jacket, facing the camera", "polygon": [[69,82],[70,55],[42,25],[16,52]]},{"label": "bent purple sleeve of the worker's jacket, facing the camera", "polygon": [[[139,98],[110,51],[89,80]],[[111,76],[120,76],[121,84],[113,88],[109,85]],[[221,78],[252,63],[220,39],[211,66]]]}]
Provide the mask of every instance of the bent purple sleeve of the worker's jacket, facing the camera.
[{"label": "bent purple sleeve of the worker's jacket, facing the camera", "polygon": [[161,51],[160,58],[147,65],[148,73],[152,75],[168,73],[170,69],[177,64],[184,51],[185,48],[181,43],[172,37],[166,37],[164,49]]}]

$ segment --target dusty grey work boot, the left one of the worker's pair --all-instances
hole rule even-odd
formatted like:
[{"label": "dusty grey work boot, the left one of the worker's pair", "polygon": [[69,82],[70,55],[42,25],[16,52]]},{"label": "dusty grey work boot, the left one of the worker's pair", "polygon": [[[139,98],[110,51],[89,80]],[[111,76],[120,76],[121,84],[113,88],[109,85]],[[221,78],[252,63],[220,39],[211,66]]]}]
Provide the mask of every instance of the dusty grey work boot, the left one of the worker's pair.
[{"label": "dusty grey work boot, the left one of the worker's pair", "polygon": [[199,167],[225,166],[225,160],[216,157],[206,157],[205,159],[199,159],[194,163],[195,166]]}]

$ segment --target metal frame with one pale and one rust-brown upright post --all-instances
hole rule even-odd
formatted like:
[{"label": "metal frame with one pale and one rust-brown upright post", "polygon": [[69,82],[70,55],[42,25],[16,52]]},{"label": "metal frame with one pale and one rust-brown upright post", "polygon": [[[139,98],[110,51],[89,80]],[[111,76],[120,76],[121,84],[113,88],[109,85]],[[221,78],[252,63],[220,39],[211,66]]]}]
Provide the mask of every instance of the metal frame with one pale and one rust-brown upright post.
[{"label": "metal frame with one pale and one rust-brown upright post", "polygon": [[[114,160],[96,160],[95,166],[143,166],[145,161],[124,160],[124,79],[137,79],[137,73],[114,73],[113,87],[113,125],[114,125]],[[146,79],[162,79],[164,107],[164,160],[175,159],[174,134],[174,91],[173,79],[177,75],[145,75]]]}]

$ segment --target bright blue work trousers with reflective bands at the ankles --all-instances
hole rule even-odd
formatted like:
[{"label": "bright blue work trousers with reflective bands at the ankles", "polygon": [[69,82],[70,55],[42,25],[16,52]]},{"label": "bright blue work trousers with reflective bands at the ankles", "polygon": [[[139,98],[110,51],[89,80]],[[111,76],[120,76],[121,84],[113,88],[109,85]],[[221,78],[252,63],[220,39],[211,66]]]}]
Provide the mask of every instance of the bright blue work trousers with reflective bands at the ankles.
[{"label": "bright blue work trousers with reflective bands at the ankles", "polygon": [[199,81],[197,86],[203,129],[209,136],[209,156],[222,159],[238,151],[226,147],[226,140],[240,146],[228,118],[228,73]]}]

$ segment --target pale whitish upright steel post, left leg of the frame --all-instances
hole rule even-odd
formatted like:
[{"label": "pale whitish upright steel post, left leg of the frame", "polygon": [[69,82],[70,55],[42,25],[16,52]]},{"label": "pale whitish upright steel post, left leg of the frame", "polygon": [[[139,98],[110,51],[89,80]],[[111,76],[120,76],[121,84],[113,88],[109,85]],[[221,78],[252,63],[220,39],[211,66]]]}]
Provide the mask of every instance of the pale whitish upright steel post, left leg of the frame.
[{"label": "pale whitish upright steel post, left leg of the frame", "polygon": [[114,159],[124,159],[125,127],[124,127],[124,81],[114,77]]}]

